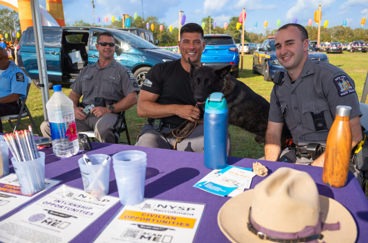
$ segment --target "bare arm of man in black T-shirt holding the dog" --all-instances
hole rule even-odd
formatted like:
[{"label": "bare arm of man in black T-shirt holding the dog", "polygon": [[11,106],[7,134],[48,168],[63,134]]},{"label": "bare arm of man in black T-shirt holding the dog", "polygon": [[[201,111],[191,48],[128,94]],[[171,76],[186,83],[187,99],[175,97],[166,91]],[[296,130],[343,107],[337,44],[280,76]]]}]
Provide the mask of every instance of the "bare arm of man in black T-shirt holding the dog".
[{"label": "bare arm of man in black T-shirt holding the dog", "polygon": [[192,105],[160,105],[156,101],[159,94],[141,90],[138,98],[137,113],[139,117],[162,118],[177,115],[181,118],[194,121],[199,119],[201,111]]}]

